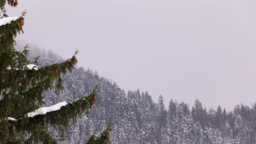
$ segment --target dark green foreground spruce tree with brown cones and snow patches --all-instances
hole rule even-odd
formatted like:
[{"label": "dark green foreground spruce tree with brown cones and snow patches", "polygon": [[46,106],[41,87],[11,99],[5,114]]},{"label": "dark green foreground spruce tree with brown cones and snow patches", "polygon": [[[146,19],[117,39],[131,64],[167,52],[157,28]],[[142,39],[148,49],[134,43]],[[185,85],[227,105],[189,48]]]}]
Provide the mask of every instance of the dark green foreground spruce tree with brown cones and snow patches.
[{"label": "dark green foreground spruce tree with brown cones and snow patches", "polygon": [[[42,107],[44,91],[60,91],[62,76],[72,73],[78,63],[77,52],[62,63],[38,68],[37,59],[32,63],[27,60],[28,46],[21,52],[15,50],[15,37],[23,33],[25,13],[8,17],[7,4],[16,7],[18,1],[0,0],[0,143],[57,143],[65,139],[70,121],[90,112],[98,88],[73,103]],[[59,136],[48,133],[49,127],[59,130]],[[108,126],[99,137],[92,135],[88,143],[110,143],[110,130]]]}]

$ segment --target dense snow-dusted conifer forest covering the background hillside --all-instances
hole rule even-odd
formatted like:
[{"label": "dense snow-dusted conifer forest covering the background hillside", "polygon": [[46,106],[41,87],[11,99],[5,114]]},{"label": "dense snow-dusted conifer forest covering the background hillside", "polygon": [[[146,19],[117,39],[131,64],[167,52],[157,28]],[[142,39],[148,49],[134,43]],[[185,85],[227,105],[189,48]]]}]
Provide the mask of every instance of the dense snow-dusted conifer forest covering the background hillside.
[{"label": "dense snow-dusted conifer forest covering the background hillside", "polygon": [[[40,67],[63,59],[52,51],[31,49],[30,59],[39,56]],[[74,101],[88,95],[99,85],[98,101],[88,116],[70,123],[68,138],[61,143],[85,143],[95,130],[105,129],[112,123],[112,143],[256,143],[256,104],[236,105],[234,110],[224,107],[206,109],[200,100],[194,105],[166,99],[152,100],[148,92],[125,92],[117,83],[98,76],[95,71],[77,67],[64,76],[61,92],[45,92],[46,106],[65,100]],[[149,89],[150,91],[150,89]],[[57,134],[49,127],[49,131]]]}]

